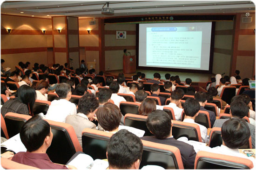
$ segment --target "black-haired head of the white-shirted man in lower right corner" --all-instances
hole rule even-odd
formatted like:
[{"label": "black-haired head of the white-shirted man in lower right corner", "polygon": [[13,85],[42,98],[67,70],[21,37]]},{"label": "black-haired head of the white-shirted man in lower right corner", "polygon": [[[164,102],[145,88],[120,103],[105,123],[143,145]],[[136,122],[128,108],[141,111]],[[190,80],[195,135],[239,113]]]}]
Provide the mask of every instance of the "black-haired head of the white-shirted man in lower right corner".
[{"label": "black-haired head of the white-shirted man in lower right corner", "polygon": [[225,121],[222,125],[223,144],[230,149],[238,149],[250,138],[250,130],[247,123],[239,118]]}]

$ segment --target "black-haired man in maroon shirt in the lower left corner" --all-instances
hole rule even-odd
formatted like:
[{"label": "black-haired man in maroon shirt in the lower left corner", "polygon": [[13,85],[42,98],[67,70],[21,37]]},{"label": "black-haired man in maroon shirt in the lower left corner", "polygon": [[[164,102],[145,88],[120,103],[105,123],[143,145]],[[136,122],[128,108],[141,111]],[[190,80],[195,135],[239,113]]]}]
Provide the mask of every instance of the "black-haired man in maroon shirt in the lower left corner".
[{"label": "black-haired man in maroon shirt in the lower left corner", "polygon": [[39,169],[74,169],[70,165],[54,164],[48,157],[46,151],[52,143],[53,133],[40,115],[34,115],[21,127],[20,139],[27,152],[16,153],[12,161]]}]

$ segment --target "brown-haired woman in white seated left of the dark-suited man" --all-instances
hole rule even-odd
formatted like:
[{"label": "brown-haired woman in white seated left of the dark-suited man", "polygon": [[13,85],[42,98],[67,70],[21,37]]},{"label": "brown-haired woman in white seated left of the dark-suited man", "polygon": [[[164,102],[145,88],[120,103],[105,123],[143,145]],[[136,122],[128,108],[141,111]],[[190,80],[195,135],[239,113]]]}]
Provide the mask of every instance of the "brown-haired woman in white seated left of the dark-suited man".
[{"label": "brown-haired woman in white seated left of the dark-suited man", "polygon": [[121,129],[126,129],[138,137],[142,137],[145,133],[145,131],[136,129],[134,127],[120,125],[121,111],[115,104],[105,103],[103,107],[98,108],[96,111],[96,116],[97,117],[94,117],[94,119],[98,120],[99,125],[101,125],[105,131],[110,133],[118,132]]}]

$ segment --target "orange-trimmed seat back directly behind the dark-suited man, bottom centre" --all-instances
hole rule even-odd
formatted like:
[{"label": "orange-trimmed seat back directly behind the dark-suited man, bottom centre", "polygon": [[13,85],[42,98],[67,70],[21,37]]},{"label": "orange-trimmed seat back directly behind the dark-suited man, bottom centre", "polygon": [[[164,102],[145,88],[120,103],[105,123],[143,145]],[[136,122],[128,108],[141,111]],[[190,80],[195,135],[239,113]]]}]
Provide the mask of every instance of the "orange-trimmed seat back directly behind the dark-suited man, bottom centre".
[{"label": "orange-trimmed seat back directly behind the dark-suited man, bottom centre", "polygon": [[143,153],[139,169],[146,165],[158,165],[164,169],[184,169],[180,150],[175,146],[141,141]]}]

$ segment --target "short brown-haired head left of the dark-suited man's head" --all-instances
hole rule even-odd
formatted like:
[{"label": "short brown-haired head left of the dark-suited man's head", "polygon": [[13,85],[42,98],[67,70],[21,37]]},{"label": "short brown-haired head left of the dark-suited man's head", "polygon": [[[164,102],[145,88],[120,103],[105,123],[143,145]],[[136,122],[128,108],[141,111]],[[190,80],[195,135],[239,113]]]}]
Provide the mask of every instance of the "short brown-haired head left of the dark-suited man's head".
[{"label": "short brown-haired head left of the dark-suited man's head", "polygon": [[99,124],[105,131],[117,130],[121,121],[121,111],[113,103],[105,103],[96,111]]}]

